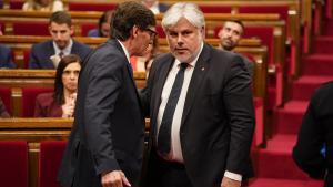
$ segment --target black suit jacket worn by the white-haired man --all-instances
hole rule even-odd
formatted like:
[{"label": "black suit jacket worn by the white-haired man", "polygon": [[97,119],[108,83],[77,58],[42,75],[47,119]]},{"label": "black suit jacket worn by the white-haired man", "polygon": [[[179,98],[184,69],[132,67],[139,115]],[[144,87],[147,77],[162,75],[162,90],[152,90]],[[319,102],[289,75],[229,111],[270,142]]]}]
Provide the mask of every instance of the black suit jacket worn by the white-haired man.
[{"label": "black suit jacket worn by the white-haired man", "polygon": [[[173,55],[157,58],[142,101],[150,103],[151,136],[148,180],[158,174],[154,158],[157,116]],[[253,175],[250,147],[254,131],[251,77],[242,59],[204,44],[189,85],[180,141],[193,187],[218,187],[224,170]]]}]

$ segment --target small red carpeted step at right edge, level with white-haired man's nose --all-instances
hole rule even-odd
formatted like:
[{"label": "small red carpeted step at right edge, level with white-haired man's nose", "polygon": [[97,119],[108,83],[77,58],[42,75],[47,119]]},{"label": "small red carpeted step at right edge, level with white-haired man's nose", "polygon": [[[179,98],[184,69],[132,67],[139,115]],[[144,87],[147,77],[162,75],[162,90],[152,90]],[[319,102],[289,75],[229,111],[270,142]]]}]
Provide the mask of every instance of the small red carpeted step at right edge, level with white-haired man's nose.
[{"label": "small red carpeted step at right edge, level with white-haired man's nose", "polygon": [[312,43],[312,52],[317,54],[333,54],[333,37],[316,37]]}]

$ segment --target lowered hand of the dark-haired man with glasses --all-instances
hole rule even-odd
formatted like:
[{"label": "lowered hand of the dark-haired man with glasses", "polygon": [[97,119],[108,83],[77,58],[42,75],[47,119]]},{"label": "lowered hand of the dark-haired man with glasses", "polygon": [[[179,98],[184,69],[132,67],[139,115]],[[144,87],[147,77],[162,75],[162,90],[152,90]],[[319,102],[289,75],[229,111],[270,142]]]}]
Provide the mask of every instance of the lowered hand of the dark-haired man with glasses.
[{"label": "lowered hand of the dark-haired man with glasses", "polygon": [[102,187],[125,187],[131,186],[125,175],[121,170],[112,170],[102,174]]}]

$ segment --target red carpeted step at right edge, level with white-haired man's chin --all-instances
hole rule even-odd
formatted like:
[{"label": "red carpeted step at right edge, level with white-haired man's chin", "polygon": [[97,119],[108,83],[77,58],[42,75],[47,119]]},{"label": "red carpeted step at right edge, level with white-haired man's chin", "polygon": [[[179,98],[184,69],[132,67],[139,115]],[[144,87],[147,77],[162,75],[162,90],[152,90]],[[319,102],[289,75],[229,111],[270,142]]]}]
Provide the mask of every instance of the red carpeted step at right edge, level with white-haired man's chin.
[{"label": "red carpeted step at right edge, level with white-haired man's chin", "polygon": [[333,55],[312,54],[303,58],[303,75],[333,76]]}]

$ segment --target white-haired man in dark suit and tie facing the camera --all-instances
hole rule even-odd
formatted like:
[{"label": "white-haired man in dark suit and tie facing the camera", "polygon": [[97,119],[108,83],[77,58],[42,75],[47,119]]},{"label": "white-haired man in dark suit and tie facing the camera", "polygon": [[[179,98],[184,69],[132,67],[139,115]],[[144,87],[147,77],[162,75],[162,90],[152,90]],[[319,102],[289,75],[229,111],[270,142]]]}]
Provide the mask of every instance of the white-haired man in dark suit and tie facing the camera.
[{"label": "white-haired man in dark suit and tie facing the camera", "polygon": [[175,3],[162,27],[171,53],[152,63],[142,101],[150,107],[150,187],[239,187],[253,175],[251,79],[241,58],[203,42],[204,15]]}]

